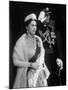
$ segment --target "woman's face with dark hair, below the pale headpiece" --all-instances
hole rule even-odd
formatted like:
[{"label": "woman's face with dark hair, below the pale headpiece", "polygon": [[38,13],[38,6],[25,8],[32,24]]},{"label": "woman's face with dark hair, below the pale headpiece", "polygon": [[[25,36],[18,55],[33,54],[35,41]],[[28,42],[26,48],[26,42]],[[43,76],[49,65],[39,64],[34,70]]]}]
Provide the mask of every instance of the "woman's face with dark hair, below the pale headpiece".
[{"label": "woman's face with dark hair, below the pale headpiece", "polygon": [[29,34],[34,35],[37,30],[37,23],[36,21],[31,21],[29,25],[27,26],[27,31]]}]

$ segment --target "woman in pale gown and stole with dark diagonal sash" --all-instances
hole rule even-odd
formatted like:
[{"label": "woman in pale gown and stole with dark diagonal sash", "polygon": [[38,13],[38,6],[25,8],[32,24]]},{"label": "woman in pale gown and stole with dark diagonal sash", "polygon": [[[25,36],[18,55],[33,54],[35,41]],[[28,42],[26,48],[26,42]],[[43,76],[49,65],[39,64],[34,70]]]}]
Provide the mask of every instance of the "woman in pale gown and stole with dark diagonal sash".
[{"label": "woman in pale gown and stole with dark diagonal sash", "polygon": [[[13,88],[47,86],[46,79],[50,73],[44,64],[42,41],[35,35],[36,20],[34,13],[26,16],[24,22],[27,33],[18,39],[14,47],[13,61],[18,70]],[[43,85],[40,78],[43,79]]]}]

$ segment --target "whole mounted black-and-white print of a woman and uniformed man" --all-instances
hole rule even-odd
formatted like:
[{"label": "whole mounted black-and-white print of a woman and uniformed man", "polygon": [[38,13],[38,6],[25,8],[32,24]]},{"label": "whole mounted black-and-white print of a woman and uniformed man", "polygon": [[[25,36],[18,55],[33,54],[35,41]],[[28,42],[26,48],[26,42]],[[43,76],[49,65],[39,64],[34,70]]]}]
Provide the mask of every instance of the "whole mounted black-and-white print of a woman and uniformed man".
[{"label": "whole mounted black-and-white print of a woman and uniformed man", "polygon": [[9,88],[66,86],[66,4],[9,1]]}]

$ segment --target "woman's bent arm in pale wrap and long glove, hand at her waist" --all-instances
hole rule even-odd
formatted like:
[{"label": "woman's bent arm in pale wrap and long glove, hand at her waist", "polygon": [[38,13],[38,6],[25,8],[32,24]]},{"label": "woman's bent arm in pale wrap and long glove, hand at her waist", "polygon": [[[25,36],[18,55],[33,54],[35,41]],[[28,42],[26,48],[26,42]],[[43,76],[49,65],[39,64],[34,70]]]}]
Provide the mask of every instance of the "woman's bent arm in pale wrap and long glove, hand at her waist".
[{"label": "woman's bent arm in pale wrap and long glove, hand at her waist", "polygon": [[18,45],[14,47],[13,62],[14,65],[18,67],[32,67],[34,69],[37,69],[38,67],[38,64],[30,63],[28,60],[25,60],[23,50],[21,46]]}]

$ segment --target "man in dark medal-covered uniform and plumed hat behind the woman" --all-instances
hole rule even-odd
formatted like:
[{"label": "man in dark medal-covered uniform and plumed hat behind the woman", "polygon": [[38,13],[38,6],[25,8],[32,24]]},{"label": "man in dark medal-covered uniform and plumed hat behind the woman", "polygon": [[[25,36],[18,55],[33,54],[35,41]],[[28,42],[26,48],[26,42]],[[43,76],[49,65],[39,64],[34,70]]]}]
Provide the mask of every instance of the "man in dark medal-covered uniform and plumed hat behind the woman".
[{"label": "man in dark medal-covered uniform and plumed hat behind the woman", "polygon": [[60,71],[63,69],[62,44],[59,32],[55,31],[54,20],[49,8],[43,9],[38,17],[40,27],[39,35],[45,48],[45,63],[50,70],[49,86],[60,85]]}]

